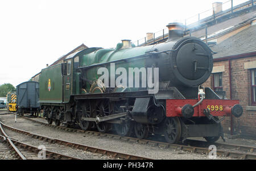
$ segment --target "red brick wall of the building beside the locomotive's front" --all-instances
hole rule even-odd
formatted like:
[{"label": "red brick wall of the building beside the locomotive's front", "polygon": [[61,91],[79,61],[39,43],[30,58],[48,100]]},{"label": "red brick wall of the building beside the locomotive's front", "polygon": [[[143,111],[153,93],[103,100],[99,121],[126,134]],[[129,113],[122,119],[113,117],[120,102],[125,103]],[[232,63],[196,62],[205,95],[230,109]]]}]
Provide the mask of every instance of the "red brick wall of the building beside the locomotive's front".
[{"label": "red brick wall of the building beside the locomotive's front", "polygon": [[[246,110],[246,106],[251,105],[251,81],[250,69],[244,69],[244,63],[256,61],[256,56],[244,57],[240,59],[230,60],[232,75],[232,99],[239,99],[240,105],[243,107],[243,115],[240,118],[233,116],[233,132],[241,134],[242,137],[256,139],[256,110]],[[226,97],[230,99],[229,87],[229,61],[216,61],[213,66],[225,65],[225,71],[222,72],[223,91],[226,91]],[[211,75],[204,86],[213,89],[213,75]],[[224,132],[230,133],[230,117],[222,121]]]}]

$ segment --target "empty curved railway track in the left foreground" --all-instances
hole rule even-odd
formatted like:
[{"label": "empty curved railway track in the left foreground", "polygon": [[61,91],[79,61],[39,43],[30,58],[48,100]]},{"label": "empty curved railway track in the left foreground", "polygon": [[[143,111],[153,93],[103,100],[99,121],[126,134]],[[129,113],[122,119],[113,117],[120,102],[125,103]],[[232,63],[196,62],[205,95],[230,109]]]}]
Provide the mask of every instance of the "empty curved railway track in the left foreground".
[{"label": "empty curved railway track in the left foreground", "polygon": [[[1,124],[2,124],[2,127],[7,128],[8,130],[17,132],[18,134],[23,134],[23,136],[26,135],[26,136],[29,136],[32,139],[37,139],[37,140],[40,140],[40,141],[44,141],[43,144],[46,145],[46,149],[52,148],[53,151],[56,151],[56,148],[57,148],[57,151],[64,151],[65,153],[69,152],[69,153],[73,153],[75,155],[77,155],[77,154],[84,155],[83,152],[86,152],[85,156],[87,158],[82,158],[82,156],[81,156],[79,158],[75,157],[75,159],[88,159],[89,155],[91,155],[92,153],[97,153],[97,154],[101,154],[101,155],[98,156],[98,158],[100,158],[102,155],[105,155],[105,156],[109,156],[110,159],[151,160],[151,159],[146,158],[146,157],[134,156],[134,155],[126,154],[126,153],[108,151],[108,150],[105,150],[105,149],[90,147],[88,145],[77,144],[77,143],[73,143],[73,142],[70,142],[70,141],[65,141],[65,140],[55,139],[55,138],[52,138],[52,137],[38,135],[38,134],[34,134],[32,132],[27,132],[27,131],[16,129],[14,127],[7,126],[6,124],[3,124],[3,123],[1,123]],[[20,142],[15,141],[15,143],[20,143]],[[52,145],[50,145],[50,144],[56,144],[56,145],[54,147],[52,147]],[[22,146],[24,146],[24,145],[22,145]],[[28,148],[30,148],[30,147],[28,147]],[[75,149],[76,149],[76,151],[75,151]],[[38,151],[36,151],[36,152],[38,152]],[[51,154],[51,155],[54,155],[54,154]],[[69,156],[67,156],[66,158],[69,159]],[[60,159],[62,159],[62,158],[60,158]],[[70,159],[73,159],[73,158],[70,157]]]}]

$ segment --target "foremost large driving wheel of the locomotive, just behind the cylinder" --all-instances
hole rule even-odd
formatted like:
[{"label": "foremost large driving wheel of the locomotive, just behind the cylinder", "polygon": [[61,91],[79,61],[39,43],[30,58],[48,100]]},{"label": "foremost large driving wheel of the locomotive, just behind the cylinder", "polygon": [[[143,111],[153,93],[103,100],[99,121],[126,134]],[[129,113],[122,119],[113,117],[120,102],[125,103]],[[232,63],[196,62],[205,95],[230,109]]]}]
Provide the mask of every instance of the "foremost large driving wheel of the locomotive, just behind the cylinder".
[{"label": "foremost large driving wheel of the locomotive, just behind the cylinder", "polygon": [[[118,114],[124,112],[124,110],[120,107],[121,103],[114,104],[114,114]],[[114,124],[115,131],[120,136],[131,136],[133,132],[134,124],[130,120],[122,120],[122,122]]]}]

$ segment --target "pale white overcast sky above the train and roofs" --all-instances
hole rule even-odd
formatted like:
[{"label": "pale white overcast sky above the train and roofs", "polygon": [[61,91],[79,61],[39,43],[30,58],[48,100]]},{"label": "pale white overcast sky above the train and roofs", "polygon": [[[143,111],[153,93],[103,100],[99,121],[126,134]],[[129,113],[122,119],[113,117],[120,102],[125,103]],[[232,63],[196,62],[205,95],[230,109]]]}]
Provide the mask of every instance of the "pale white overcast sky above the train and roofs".
[{"label": "pale white overcast sky above the train and roofs", "polygon": [[[0,0],[0,85],[30,80],[82,43],[115,48],[228,0]],[[234,5],[245,0],[233,0]],[[230,1],[223,5],[230,6]],[[201,14],[210,15],[211,11]],[[192,18],[191,18],[192,17]]]}]

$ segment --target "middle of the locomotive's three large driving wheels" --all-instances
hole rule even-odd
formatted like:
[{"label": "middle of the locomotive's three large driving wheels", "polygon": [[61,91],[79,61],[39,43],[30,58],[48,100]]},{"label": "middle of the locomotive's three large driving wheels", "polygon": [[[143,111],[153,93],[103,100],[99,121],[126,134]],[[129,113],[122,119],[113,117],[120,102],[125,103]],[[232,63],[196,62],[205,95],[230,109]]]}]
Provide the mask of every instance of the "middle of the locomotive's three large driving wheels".
[{"label": "middle of the locomotive's three large driving wheels", "polygon": [[[96,115],[98,117],[108,116],[110,115],[110,106],[108,101],[101,101],[96,105]],[[100,122],[96,124],[99,132],[108,132],[110,130],[110,123]]]}]

